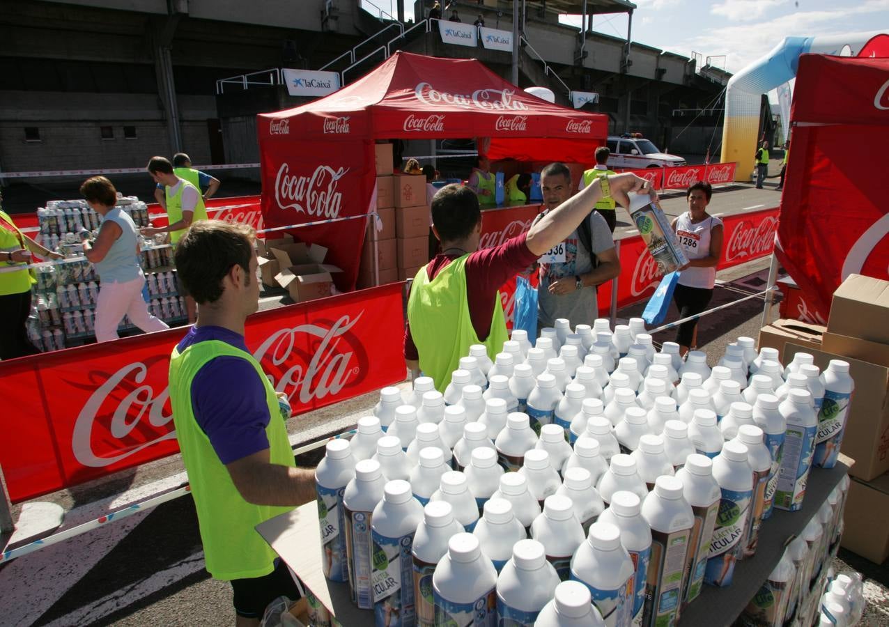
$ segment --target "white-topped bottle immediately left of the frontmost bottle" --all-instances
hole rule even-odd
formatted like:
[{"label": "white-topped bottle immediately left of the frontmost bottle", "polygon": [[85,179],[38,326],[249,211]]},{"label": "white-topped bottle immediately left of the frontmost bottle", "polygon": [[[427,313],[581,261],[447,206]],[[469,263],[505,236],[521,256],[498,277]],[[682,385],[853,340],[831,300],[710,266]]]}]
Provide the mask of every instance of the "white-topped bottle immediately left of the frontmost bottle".
[{"label": "white-topped bottle immediately left of the frontmost bottle", "polygon": [[541,609],[553,598],[559,578],[536,540],[519,540],[512,558],[497,578],[497,616],[510,627],[533,627]]}]

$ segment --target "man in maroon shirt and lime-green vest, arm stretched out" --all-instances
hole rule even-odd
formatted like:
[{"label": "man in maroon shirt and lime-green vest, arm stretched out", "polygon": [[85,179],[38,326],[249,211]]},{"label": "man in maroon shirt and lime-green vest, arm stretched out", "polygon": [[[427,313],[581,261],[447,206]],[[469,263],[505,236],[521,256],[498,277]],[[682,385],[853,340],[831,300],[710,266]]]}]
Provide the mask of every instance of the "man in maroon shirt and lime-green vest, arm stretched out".
[{"label": "man in maroon shirt and lime-green vest, arm stretched out", "polygon": [[470,345],[485,344],[493,359],[508,337],[500,286],[570,236],[598,200],[613,197],[629,206],[631,192],[656,197],[635,174],[602,177],[527,232],[479,250],[482,213],[476,195],[460,185],[439,190],[432,199],[432,229],[442,252],[417,272],[407,301],[404,359],[412,374],[422,371],[444,391]]}]

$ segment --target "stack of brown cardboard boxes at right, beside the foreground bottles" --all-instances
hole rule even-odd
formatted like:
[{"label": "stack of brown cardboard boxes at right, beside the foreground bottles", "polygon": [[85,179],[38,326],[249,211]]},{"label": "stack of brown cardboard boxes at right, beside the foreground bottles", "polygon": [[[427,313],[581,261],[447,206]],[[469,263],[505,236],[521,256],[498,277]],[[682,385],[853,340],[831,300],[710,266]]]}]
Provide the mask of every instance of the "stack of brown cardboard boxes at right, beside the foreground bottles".
[{"label": "stack of brown cardboard boxes at right, beside the foreground bottles", "polygon": [[849,474],[843,546],[877,564],[889,557],[889,282],[850,275],[837,288],[827,327],[778,320],[760,332],[760,345],[781,350],[782,363],[811,353],[823,370],[849,362],[855,382],[842,452]]}]

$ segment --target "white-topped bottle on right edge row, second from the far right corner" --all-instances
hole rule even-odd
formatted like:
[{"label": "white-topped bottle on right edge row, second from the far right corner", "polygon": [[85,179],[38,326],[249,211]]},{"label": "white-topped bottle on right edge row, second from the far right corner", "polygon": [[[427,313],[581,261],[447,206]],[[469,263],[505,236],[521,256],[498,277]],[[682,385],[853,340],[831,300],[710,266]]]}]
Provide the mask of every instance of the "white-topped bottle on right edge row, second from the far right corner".
[{"label": "white-topped bottle on right edge row, second from the far right corner", "polygon": [[803,507],[818,431],[818,416],[811,404],[812,395],[807,390],[790,390],[778,406],[787,422],[778,489],[774,496],[774,506],[780,510],[796,511]]}]

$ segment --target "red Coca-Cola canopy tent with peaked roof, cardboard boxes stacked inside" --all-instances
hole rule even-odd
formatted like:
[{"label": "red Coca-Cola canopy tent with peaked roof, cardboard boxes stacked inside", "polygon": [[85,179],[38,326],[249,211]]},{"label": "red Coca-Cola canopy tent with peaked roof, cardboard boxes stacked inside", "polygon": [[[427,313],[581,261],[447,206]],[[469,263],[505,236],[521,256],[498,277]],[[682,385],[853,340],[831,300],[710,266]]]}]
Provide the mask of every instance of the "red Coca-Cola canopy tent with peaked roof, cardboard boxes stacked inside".
[{"label": "red Coca-Cola canopy tent with peaked roof, cardboard boxes stacked inside", "polygon": [[[263,218],[276,227],[368,213],[378,140],[490,138],[479,143],[492,159],[593,163],[607,120],[536,98],[477,60],[396,52],[339,92],[259,116]],[[338,287],[354,287],[363,220],[299,235],[327,246]]]}]

